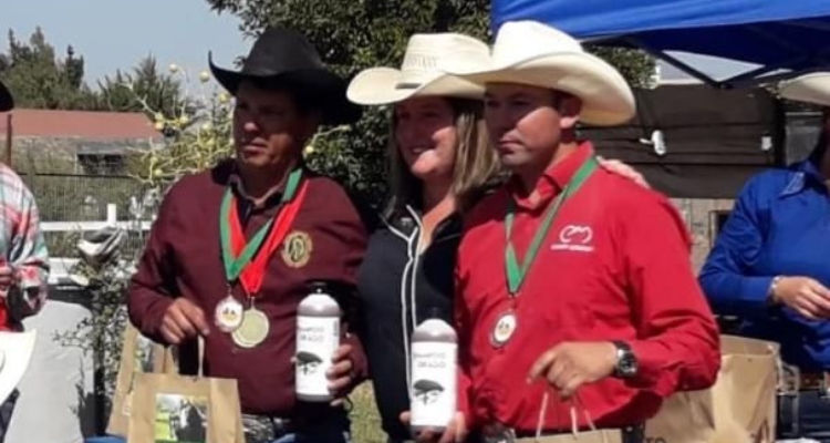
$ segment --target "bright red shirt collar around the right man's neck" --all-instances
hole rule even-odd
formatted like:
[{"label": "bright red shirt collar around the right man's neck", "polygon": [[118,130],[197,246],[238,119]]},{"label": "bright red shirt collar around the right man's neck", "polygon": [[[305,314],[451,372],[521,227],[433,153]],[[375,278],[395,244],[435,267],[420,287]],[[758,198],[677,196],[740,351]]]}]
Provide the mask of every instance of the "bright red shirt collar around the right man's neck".
[{"label": "bright red shirt collar around the right man's neck", "polygon": [[510,196],[516,199],[516,205],[525,209],[533,209],[542,204],[547,204],[548,200],[564,189],[568,182],[573,177],[573,174],[577,173],[577,169],[579,169],[584,161],[592,156],[593,153],[593,145],[591,142],[581,142],[577,147],[577,151],[564,157],[559,163],[548,167],[536,184],[535,189],[539,193],[540,197],[539,203],[536,205],[530,202],[531,193],[523,193],[521,183],[517,176],[511,177],[508,182],[508,192]]}]

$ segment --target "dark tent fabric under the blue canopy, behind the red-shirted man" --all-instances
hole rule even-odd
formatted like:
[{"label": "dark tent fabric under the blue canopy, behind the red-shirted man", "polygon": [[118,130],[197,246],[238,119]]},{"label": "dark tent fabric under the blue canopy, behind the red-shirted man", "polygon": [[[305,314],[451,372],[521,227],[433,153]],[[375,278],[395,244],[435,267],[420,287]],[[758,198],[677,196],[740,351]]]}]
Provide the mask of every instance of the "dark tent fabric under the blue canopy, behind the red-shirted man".
[{"label": "dark tent fabric under the blue canopy, behind the red-shirted man", "polygon": [[[751,175],[784,164],[780,102],[764,89],[664,85],[635,94],[630,124],[580,133],[600,155],[631,164],[671,197],[734,198]],[[654,131],[664,135],[663,155],[650,144]]]}]

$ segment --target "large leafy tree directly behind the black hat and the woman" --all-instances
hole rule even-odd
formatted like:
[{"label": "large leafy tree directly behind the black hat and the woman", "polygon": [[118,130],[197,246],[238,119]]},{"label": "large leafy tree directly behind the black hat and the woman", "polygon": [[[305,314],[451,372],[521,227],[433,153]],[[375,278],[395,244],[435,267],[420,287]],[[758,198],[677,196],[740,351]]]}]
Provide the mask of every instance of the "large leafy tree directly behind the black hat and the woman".
[{"label": "large leafy tree directly behind the black hat and the woman", "polygon": [[[344,75],[377,65],[398,65],[415,32],[463,32],[490,40],[489,0],[206,0],[218,12],[241,19],[240,29],[257,35],[268,25],[300,30]],[[639,51],[591,49],[634,85],[653,72],[651,58]],[[377,206],[386,192],[387,112],[366,110],[351,131],[335,132],[314,145],[311,164],[364,194]]]}]

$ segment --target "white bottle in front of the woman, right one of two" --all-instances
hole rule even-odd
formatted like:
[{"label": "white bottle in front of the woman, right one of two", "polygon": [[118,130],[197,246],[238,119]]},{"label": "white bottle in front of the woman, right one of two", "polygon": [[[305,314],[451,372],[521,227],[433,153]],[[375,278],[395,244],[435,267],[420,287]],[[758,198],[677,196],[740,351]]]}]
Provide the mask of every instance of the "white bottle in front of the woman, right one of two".
[{"label": "white bottle in front of the woman, right one of two", "polygon": [[458,337],[439,312],[412,333],[412,385],[409,426],[413,432],[443,432],[457,411]]}]

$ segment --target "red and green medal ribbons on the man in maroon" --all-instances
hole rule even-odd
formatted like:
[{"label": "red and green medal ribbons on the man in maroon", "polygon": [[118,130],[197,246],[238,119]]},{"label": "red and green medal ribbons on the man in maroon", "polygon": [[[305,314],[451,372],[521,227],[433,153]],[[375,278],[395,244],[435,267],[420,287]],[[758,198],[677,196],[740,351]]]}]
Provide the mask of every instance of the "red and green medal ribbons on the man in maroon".
[{"label": "red and green medal ribbons on the man in maroon", "polygon": [[[308,182],[303,182],[298,193],[301,178],[301,168],[291,172],[280,200],[282,207],[279,213],[259,228],[247,244],[242,225],[239,222],[236,197],[230,188],[225,192],[219,210],[219,235],[221,237],[225,276],[228,282],[239,279],[249,297],[256,297],[262,286],[266,264],[286,237],[297,213],[300,210],[308,187]],[[266,238],[266,236],[268,237]],[[258,250],[259,254],[257,254]]]}]

